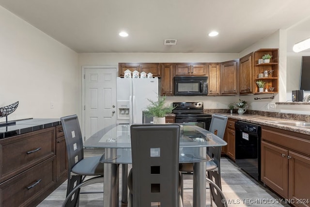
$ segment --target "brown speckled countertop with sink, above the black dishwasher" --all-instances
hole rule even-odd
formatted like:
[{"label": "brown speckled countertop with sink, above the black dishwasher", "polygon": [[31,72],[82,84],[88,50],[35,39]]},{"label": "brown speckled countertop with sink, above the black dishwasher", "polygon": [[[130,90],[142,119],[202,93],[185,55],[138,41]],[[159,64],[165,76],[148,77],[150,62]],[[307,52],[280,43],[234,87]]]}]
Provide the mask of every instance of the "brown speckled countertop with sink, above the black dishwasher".
[{"label": "brown speckled countertop with sink, above the black dishwasher", "polygon": [[279,119],[279,118],[274,118],[274,117],[252,115],[252,114],[242,114],[242,115],[239,115],[237,113],[217,113],[217,114],[222,114],[222,115],[227,116],[228,118],[232,118],[232,119],[236,119],[236,120],[244,121],[244,122],[249,122],[252,124],[275,127],[275,128],[288,130],[288,131],[294,131],[294,132],[310,135],[310,127],[308,128],[295,127],[295,126],[272,123],[274,121],[295,121],[297,122],[296,120]]}]

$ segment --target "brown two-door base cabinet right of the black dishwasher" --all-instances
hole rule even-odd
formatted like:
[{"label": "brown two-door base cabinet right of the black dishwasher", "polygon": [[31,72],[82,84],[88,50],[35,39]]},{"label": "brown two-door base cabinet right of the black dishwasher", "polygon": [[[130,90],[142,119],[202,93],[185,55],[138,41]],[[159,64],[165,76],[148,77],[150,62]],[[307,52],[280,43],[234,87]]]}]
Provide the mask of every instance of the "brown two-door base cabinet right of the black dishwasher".
[{"label": "brown two-door base cabinet right of the black dishwasher", "polygon": [[261,180],[296,207],[310,207],[310,136],[262,127]]}]

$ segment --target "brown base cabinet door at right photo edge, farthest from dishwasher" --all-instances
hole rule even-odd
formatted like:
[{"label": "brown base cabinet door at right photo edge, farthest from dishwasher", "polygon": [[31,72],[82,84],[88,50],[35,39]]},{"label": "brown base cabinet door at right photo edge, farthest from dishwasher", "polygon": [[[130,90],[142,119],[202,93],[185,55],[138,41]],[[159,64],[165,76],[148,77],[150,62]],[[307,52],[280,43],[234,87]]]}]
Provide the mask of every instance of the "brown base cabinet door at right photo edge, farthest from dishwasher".
[{"label": "brown base cabinet door at right photo edge, farthest from dishwasher", "polygon": [[289,199],[295,206],[310,206],[310,158],[289,151]]}]

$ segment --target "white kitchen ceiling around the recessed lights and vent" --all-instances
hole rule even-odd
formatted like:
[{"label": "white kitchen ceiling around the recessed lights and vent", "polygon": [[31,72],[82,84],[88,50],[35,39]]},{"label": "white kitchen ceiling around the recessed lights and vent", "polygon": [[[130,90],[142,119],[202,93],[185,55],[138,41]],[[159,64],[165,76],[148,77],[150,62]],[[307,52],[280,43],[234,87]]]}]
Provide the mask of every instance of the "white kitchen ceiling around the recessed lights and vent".
[{"label": "white kitchen ceiling around the recessed lights and vent", "polygon": [[[0,5],[78,53],[239,53],[310,15],[309,0],[270,0],[266,5],[263,2],[0,0]],[[304,21],[308,27],[304,35],[308,37],[309,22]],[[305,30],[306,26],[299,28]],[[217,37],[208,36],[213,30],[219,32]],[[120,37],[121,31],[129,36]],[[165,39],[176,39],[177,45],[165,46]]]}]

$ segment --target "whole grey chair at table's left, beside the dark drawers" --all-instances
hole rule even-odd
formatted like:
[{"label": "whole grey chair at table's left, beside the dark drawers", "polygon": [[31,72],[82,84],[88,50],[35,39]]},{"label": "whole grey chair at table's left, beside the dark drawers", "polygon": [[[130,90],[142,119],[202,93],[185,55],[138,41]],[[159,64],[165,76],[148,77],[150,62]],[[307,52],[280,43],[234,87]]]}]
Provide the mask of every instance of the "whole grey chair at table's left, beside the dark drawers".
[{"label": "whole grey chair at table's left, beside the dark drawers", "polygon": [[[103,183],[104,167],[103,163],[100,162],[102,156],[84,158],[83,141],[78,123],[78,116],[71,115],[62,117],[61,122],[68,154],[68,186],[66,199],[62,206],[75,207],[78,206],[80,188],[94,183]],[[94,175],[94,177],[85,180],[87,175]]]}]

